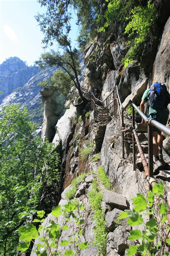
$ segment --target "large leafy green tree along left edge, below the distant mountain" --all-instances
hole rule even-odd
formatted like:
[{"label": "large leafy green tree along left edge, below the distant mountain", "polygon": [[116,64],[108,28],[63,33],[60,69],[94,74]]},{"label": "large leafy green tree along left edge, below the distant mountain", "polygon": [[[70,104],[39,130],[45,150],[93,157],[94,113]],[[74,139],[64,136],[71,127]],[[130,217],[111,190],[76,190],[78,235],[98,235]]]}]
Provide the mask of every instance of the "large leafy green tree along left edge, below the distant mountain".
[{"label": "large leafy green tree along left edge, below the distant mountain", "polygon": [[7,105],[0,115],[0,255],[15,255],[16,229],[41,207],[43,186],[60,176],[60,161],[49,154],[52,144],[37,136],[26,108]]}]

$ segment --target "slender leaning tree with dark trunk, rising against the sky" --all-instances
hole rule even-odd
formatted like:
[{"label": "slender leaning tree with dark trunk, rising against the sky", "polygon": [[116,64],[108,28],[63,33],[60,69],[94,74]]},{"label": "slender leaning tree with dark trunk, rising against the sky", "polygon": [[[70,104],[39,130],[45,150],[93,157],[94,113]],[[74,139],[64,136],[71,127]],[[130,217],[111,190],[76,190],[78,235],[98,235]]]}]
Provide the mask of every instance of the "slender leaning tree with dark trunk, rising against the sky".
[{"label": "slender leaning tree with dark trunk, rising against the sky", "polygon": [[36,61],[36,64],[41,68],[57,65],[65,70],[78,89],[81,100],[86,102],[87,100],[82,95],[78,79],[81,73],[78,51],[75,48],[71,48],[71,41],[68,39],[71,30],[71,10],[74,9],[77,14],[77,25],[81,24],[83,29],[85,23],[88,28],[94,27],[92,23],[95,20],[94,17],[97,17],[99,13],[100,1],[92,0],[89,3],[88,0],[39,0],[39,3],[47,8],[46,13],[36,16],[36,20],[44,34],[44,39],[42,40],[44,48],[47,45],[53,45],[55,41],[64,50],[64,53],[61,54],[59,51],[44,53],[39,61]]}]

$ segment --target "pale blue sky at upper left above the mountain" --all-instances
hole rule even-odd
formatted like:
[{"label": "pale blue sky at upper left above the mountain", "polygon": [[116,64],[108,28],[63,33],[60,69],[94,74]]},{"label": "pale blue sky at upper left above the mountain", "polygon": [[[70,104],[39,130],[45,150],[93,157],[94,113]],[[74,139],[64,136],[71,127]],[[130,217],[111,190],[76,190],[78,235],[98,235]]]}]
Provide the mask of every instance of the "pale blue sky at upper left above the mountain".
[{"label": "pale blue sky at upper left above the mountain", "polygon": [[[0,64],[6,58],[16,56],[27,61],[28,66],[34,65],[34,61],[44,52],[41,43],[43,34],[34,16],[44,11],[45,8],[41,8],[37,0],[0,0]],[[75,45],[75,19],[71,23],[70,37],[72,45]]]}]

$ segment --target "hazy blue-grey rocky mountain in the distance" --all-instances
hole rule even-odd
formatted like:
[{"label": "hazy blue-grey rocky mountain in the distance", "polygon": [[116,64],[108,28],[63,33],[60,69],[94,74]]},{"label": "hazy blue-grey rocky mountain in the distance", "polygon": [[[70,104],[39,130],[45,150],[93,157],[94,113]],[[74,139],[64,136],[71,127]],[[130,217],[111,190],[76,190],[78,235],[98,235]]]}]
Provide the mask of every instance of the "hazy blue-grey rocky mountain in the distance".
[{"label": "hazy blue-grey rocky mountain in the distance", "polygon": [[28,67],[17,57],[11,57],[0,65],[0,104],[20,103],[21,108],[27,106],[34,121],[42,121],[41,88],[39,81],[49,79],[56,67],[40,70]]}]

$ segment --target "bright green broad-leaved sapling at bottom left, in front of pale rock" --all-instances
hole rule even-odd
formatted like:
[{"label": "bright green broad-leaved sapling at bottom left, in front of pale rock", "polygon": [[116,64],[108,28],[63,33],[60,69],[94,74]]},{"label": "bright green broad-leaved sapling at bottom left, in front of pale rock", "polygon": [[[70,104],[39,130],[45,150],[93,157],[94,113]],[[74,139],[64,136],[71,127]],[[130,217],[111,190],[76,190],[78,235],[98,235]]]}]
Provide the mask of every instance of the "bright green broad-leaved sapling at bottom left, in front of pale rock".
[{"label": "bright green broad-leaved sapling at bottom left, in front of pale rock", "polygon": [[[65,204],[64,209],[61,210],[61,206],[57,206],[52,209],[51,215],[58,218],[63,211],[67,212],[69,216],[72,216],[71,218],[67,218],[67,221],[73,225],[73,232],[69,235],[69,240],[62,240],[60,242],[60,246],[69,246],[72,248],[72,250],[64,249],[64,255],[77,255],[80,254],[81,250],[87,248],[89,246],[88,242],[82,242],[80,243],[80,237],[82,234],[82,224],[84,224],[84,219],[81,218],[81,215],[79,217],[76,216],[77,210],[83,211],[84,205],[78,204],[77,206],[69,201],[67,204]],[[40,213],[41,212],[41,213]],[[43,227],[43,221],[45,217],[45,212],[39,211],[37,212],[37,216],[40,218],[39,220],[36,219],[33,222],[40,222],[40,225],[38,228],[34,226],[32,223],[27,223],[26,226],[22,226],[18,229],[20,233],[20,243],[18,246],[18,250],[21,252],[25,252],[28,250],[30,242],[34,243],[35,238],[38,238],[41,243],[35,245],[35,252],[36,255],[60,255],[61,251],[57,251],[58,246],[58,239],[60,238],[61,230],[69,230],[70,227],[67,225],[61,226],[57,222],[51,220],[49,222],[48,226]],[[40,235],[41,231],[41,235]]]}]

